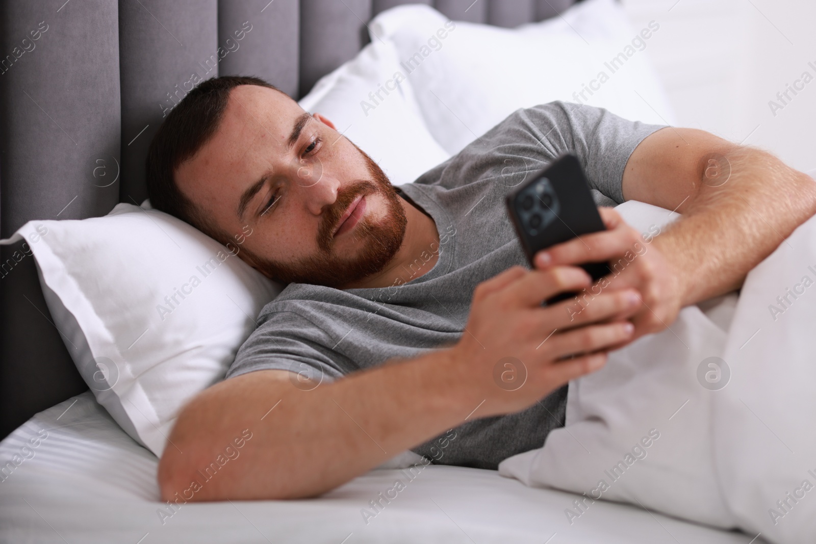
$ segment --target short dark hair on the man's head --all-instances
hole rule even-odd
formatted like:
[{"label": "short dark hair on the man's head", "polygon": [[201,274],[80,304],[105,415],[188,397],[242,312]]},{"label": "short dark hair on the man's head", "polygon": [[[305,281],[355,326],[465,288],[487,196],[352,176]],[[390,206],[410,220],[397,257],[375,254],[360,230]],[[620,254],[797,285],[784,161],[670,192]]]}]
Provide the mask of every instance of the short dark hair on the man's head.
[{"label": "short dark hair on the man's head", "polygon": [[211,77],[175,105],[153,136],[144,161],[150,205],[186,221],[223,244],[230,241],[229,235],[206,219],[206,214],[184,196],[175,184],[174,173],[215,135],[227,108],[229,92],[239,85],[268,87],[283,93],[259,77]]}]

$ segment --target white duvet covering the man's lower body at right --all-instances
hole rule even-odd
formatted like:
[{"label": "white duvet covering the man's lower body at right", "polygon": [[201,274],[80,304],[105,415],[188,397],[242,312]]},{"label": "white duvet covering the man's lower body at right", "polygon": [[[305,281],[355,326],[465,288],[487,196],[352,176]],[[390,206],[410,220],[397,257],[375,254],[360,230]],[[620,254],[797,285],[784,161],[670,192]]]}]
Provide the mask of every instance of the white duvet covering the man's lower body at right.
[{"label": "white duvet covering the man's lower body at right", "polygon": [[[627,202],[648,232],[670,212]],[[676,215],[675,215],[676,216]],[[532,486],[816,542],[816,217],[752,270],[737,294],[685,307],[660,334],[570,383],[566,427],[499,465]]]}]

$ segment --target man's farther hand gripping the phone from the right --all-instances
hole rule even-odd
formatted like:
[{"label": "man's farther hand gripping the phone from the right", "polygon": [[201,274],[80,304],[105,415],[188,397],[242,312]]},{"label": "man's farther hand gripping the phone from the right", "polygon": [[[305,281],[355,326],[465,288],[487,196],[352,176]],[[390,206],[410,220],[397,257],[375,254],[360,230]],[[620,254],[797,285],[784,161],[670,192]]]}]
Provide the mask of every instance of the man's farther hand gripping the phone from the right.
[{"label": "man's farther hand gripping the phone from the right", "polygon": [[[641,294],[642,306],[629,318],[635,325],[631,342],[644,334],[667,328],[683,303],[682,278],[658,247],[641,237],[613,208],[599,208],[608,230],[553,245],[535,256],[536,267],[548,270],[560,265],[609,261],[612,272],[570,299],[566,311],[579,318],[605,292],[633,288]],[[621,319],[615,316],[614,319]],[[621,344],[623,345],[623,344]],[[620,347],[620,346],[618,346]]]}]

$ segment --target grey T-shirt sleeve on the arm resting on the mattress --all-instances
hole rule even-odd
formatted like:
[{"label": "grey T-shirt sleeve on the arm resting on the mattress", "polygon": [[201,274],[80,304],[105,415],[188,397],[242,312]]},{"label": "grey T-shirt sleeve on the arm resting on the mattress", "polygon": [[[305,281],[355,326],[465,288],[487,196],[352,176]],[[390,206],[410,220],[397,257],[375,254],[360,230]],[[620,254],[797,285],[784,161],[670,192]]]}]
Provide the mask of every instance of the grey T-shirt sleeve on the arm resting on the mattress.
[{"label": "grey T-shirt sleeve on the arm resting on the mattress", "polygon": [[255,370],[290,370],[316,382],[333,382],[353,365],[324,344],[328,335],[295,312],[272,312],[238,349],[226,378]]}]

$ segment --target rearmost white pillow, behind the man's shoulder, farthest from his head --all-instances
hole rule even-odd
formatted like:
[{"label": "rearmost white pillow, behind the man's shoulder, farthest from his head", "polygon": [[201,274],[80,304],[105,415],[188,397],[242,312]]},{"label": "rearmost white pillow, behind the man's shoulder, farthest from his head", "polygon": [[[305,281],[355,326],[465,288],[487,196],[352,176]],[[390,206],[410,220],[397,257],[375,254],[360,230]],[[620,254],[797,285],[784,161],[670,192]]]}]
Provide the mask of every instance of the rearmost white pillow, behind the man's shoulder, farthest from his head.
[{"label": "rearmost white pillow, behind the man's shoulder, farthest from his head", "polygon": [[[373,41],[396,46],[428,129],[455,154],[518,108],[553,100],[672,124],[672,108],[641,51],[659,27],[654,21],[652,28],[632,29],[620,2],[586,0],[563,16],[517,29],[453,23],[431,7],[404,5],[377,15],[370,33]],[[608,77],[602,83],[601,72]]]}]

